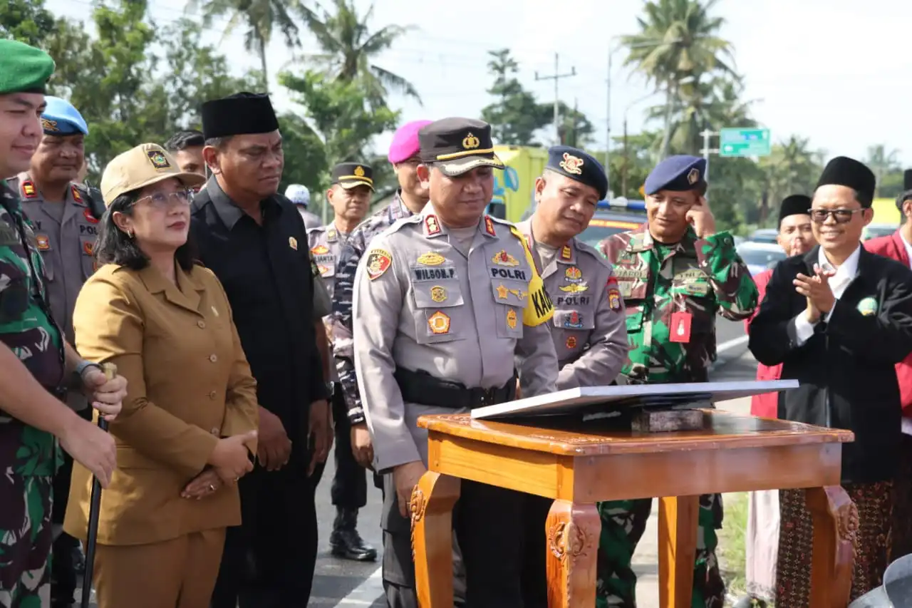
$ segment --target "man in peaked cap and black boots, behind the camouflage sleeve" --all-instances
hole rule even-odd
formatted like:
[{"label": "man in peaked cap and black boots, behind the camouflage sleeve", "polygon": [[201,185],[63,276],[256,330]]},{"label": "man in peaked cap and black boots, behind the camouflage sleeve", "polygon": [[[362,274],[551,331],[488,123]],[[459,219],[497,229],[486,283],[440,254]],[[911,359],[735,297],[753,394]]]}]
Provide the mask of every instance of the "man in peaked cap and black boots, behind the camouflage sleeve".
[{"label": "man in peaked cap and black boots, behind the camouflage sleeve", "polygon": [[[368,213],[370,194],[374,192],[373,176],[373,169],[362,162],[337,164],[332,171],[332,184],[326,191],[326,200],[332,205],[335,217],[329,225],[307,230],[310,253],[329,289],[330,297],[336,287],[339,252]],[[330,323],[328,316],[326,323]],[[333,341],[331,325],[328,333],[330,341]],[[348,423],[345,397],[338,386],[336,366],[329,365],[328,372],[329,382],[333,384],[332,408],[336,422],[336,474],[330,488],[330,496],[336,506],[336,519],[333,520],[329,546],[337,557],[374,561],[377,559],[377,550],[364,542],[358,534],[358,509],[368,504],[368,472],[358,464],[352,453],[351,425]]]}]

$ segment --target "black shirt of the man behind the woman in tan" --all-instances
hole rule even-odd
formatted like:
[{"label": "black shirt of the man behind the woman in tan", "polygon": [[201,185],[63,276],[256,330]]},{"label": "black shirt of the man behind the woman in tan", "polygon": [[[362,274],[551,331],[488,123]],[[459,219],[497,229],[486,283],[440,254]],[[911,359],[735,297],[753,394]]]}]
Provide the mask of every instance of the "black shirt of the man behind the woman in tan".
[{"label": "black shirt of the man behind the woman in tan", "polygon": [[274,194],[261,208],[257,225],[212,178],[193,200],[191,227],[202,263],[228,295],[260,404],[282,419],[292,441],[303,441],[296,431],[306,428],[306,406],[327,397],[313,267],[294,205]]}]

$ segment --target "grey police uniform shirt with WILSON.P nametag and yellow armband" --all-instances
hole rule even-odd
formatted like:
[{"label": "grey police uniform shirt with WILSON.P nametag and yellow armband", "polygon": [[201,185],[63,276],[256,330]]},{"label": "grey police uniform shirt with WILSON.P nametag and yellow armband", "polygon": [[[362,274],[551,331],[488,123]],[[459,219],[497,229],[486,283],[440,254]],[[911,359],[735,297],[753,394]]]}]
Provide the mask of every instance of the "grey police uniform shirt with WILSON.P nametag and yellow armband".
[{"label": "grey police uniform shirt with WILSON.P nametag and yellow armband", "polygon": [[418,417],[454,412],[404,403],[398,367],[490,389],[511,382],[515,365],[524,396],[554,391],[552,305],[522,236],[489,216],[472,230],[466,256],[430,203],[376,236],[358,264],[355,369],[378,471],[426,462]]}]

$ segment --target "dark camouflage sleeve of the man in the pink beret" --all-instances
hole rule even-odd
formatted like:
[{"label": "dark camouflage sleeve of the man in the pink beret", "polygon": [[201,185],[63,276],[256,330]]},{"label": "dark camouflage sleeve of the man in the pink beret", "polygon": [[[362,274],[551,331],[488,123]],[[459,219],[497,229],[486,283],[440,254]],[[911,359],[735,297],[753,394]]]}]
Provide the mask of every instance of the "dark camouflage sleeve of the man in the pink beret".
[{"label": "dark camouflage sleeve of the man in the pink beret", "polygon": [[336,266],[336,299],[333,302],[333,357],[342,395],[348,410],[348,422],[360,425],[365,422],[364,408],[358,393],[358,377],[352,338],[352,292],[358,262],[364,254],[364,233],[356,231],[342,247]]}]

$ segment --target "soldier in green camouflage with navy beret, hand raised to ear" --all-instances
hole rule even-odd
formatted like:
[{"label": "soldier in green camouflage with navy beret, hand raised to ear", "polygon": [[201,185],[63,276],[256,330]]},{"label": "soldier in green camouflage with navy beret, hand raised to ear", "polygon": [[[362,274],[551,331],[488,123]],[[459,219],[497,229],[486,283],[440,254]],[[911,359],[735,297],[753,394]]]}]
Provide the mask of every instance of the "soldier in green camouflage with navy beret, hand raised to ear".
[{"label": "soldier in green camouflage with navy beret, hand raised to ear", "polygon": [[[630,360],[623,372],[628,382],[707,382],[716,358],[716,314],[744,320],[757,306],[757,288],[734,240],[727,232],[716,232],[703,196],[705,171],[706,161],[693,156],[660,162],[645,185],[648,225],[609,236],[599,246],[615,265],[626,302]],[[627,532],[616,535],[617,545],[603,542],[599,548],[599,606],[634,605],[632,572],[612,590],[610,581],[617,573],[603,570],[625,543],[623,550],[632,552],[645,528],[652,500],[627,503],[599,507],[603,528],[616,521]],[[694,608],[721,608],[724,602],[716,559],[721,523],[720,495],[701,496]]]}]

